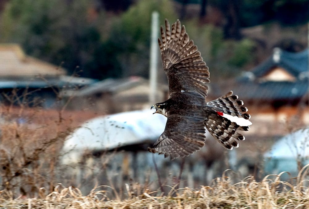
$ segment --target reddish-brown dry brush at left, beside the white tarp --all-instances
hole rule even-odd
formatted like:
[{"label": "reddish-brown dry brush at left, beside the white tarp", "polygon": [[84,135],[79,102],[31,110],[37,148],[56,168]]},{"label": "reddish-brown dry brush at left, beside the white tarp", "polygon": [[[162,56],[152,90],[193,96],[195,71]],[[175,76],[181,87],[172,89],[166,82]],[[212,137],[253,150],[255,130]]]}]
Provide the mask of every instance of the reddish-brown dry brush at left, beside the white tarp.
[{"label": "reddish-brown dry brush at left, beside the white tarp", "polygon": [[57,108],[43,109],[40,102],[33,104],[38,98],[31,97],[27,89],[2,92],[1,99],[1,188],[14,196],[34,197],[40,187],[52,192],[65,137],[95,113],[67,111],[66,103],[61,104],[60,100],[56,100],[61,104]]}]

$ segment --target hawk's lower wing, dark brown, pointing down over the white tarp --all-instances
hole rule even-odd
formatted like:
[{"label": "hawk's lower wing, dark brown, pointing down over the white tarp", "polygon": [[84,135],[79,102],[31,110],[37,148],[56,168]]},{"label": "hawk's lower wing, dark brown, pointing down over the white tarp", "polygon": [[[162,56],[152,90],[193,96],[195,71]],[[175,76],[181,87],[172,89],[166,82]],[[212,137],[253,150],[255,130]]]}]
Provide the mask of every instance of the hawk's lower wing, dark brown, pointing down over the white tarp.
[{"label": "hawk's lower wing, dark brown, pointing down over the white tarp", "polygon": [[195,111],[185,116],[172,114],[167,118],[165,130],[154,144],[152,152],[169,156],[171,160],[198,151],[205,145],[204,117]]}]

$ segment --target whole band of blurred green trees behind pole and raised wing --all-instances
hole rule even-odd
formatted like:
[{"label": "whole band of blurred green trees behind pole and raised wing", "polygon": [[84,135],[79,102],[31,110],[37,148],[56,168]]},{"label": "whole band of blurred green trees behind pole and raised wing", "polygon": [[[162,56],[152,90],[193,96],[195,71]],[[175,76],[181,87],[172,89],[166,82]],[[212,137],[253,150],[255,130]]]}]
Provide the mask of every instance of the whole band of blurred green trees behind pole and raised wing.
[{"label": "whole band of blurred green trees behind pole and raised wing", "polygon": [[[173,23],[172,2],[137,1],[112,18],[101,10],[89,20],[91,2],[11,0],[1,14],[0,41],[20,43],[29,55],[62,65],[69,74],[79,66],[81,76],[96,79],[148,77],[151,13],[159,12],[161,25],[165,18]],[[212,78],[237,72],[234,68],[250,61],[252,45],[246,41],[226,42],[221,28],[197,19],[182,24],[210,63]]]}]

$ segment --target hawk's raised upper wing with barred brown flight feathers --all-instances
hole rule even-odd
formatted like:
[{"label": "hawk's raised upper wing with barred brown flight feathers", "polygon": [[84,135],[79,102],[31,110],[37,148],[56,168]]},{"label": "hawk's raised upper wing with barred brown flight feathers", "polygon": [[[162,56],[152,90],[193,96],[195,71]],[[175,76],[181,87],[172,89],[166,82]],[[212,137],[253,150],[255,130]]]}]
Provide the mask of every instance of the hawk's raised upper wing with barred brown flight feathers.
[{"label": "hawk's raised upper wing with barred brown flight feathers", "polygon": [[165,32],[161,26],[159,47],[162,64],[168,79],[169,98],[174,93],[197,92],[207,96],[209,71],[206,63],[197,50],[197,46],[189,39],[186,29],[177,20],[170,25],[165,19]]}]

